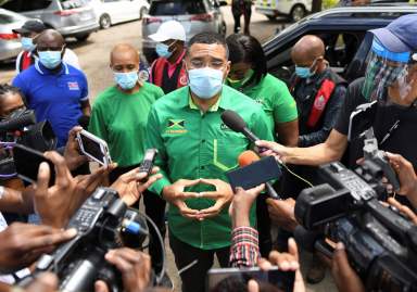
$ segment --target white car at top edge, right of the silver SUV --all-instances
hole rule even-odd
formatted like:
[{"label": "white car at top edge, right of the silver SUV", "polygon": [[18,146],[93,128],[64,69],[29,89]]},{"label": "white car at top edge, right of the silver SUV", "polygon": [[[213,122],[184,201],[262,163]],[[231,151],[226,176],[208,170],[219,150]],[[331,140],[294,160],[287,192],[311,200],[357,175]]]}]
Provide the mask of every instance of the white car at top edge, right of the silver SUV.
[{"label": "white car at top edge, right of the silver SUV", "polygon": [[312,0],[256,0],[255,9],[269,20],[283,15],[298,22],[312,11]]}]

